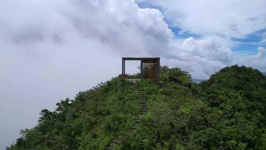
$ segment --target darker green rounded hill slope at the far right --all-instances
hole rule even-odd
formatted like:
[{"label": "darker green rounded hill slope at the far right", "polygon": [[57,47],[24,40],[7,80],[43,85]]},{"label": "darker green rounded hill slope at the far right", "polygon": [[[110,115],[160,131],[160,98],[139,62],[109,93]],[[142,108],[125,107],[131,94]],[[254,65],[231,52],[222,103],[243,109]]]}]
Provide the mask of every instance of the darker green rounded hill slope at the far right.
[{"label": "darker green rounded hill slope at the far right", "polygon": [[200,83],[208,106],[221,112],[216,130],[234,149],[266,150],[266,76],[245,66],[226,67]]}]

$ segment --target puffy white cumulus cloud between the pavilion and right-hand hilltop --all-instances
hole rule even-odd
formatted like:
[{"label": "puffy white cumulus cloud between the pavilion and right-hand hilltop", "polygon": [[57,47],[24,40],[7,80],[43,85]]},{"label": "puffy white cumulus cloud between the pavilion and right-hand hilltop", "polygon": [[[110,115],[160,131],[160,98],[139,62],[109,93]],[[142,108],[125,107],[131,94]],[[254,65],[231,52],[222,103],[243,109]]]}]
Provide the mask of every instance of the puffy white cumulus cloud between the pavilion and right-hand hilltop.
[{"label": "puffy white cumulus cloud between the pavilion and right-hand hilltop", "polygon": [[232,62],[233,52],[214,39],[187,38],[181,45],[174,44],[166,54],[167,64],[189,71],[193,78],[207,79],[209,75]]}]

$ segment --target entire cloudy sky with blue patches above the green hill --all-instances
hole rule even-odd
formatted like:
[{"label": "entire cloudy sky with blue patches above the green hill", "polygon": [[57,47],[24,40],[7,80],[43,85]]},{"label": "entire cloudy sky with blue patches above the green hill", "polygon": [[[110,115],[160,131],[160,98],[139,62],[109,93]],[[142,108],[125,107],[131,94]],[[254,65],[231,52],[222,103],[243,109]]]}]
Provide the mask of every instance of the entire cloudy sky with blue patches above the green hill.
[{"label": "entire cloudy sky with blue patches above the green hill", "polygon": [[[0,150],[42,109],[160,56],[195,79],[266,72],[266,0],[0,0]],[[137,72],[137,62],[126,72]]]}]

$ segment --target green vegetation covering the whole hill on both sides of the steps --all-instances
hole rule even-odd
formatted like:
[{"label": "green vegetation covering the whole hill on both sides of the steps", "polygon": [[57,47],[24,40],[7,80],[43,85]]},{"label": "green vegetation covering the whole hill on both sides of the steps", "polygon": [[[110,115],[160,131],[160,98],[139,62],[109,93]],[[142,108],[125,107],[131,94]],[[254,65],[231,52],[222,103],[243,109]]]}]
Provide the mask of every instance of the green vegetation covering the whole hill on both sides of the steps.
[{"label": "green vegetation covering the whole hill on both sides of the steps", "polygon": [[74,100],[42,110],[33,129],[7,150],[266,150],[266,76],[231,66],[200,84],[178,68],[161,68],[162,83],[139,82],[148,111],[140,112],[129,82],[113,78]]}]

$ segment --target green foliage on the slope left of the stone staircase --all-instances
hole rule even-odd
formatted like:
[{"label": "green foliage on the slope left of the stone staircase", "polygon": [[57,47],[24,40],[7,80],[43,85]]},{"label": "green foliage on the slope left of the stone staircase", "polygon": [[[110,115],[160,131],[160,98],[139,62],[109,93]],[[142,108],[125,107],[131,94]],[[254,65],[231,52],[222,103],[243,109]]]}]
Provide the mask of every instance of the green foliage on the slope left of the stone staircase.
[{"label": "green foliage on the slope left of the stone staircase", "polygon": [[7,150],[104,150],[140,109],[130,84],[118,78],[56,105],[54,112],[42,110],[38,125],[22,130]]}]

